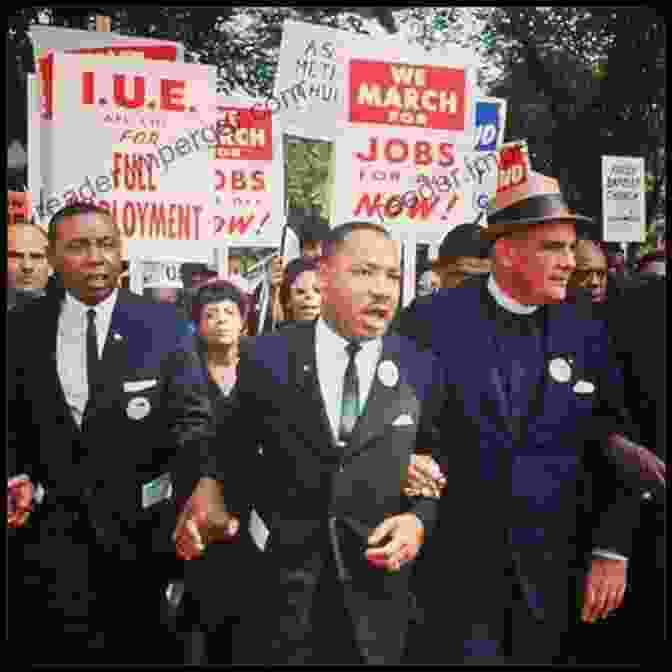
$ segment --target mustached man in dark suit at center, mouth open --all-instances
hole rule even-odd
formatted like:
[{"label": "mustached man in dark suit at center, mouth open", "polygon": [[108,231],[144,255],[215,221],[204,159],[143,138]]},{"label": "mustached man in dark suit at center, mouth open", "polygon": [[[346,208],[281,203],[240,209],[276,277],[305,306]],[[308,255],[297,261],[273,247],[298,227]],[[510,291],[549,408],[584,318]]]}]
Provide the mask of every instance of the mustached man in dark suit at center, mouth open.
[{"label": "mustached man in dark suit at center, mouth open", "polygon": [[[209,521],[227,523],[216,496],[247,489],[270,530],[272,588],[250,624],[246,660],[394,664],[412,613],[410,561],[437,508],[405,498],[402,486],[416,447],[432,452],[440,440],[442,376],[430,353],[386,333],[400,258],[385,229],[335,228],[319,273],[317,321],[241,348],[239,406],[194,473],[194,485],[201,480],[177,546],[197,557],[214,540]],[[247,478],[258,445],[270,475],[262,493]]]}]

